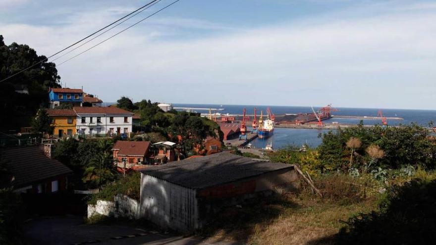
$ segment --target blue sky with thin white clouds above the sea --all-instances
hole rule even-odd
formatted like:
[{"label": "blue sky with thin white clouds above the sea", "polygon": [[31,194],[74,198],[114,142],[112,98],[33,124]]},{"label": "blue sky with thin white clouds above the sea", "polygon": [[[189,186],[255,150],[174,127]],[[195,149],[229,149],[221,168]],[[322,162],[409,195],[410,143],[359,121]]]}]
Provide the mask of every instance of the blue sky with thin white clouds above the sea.
[{"label": "blue sky with thin white clouds above the sea", "polygon": [[[148,1],[0,0],[0,34],[49,56]],[[108,102],[435,109],[428,0],[180,0],[58,65],[171,2],[55,60],[62,84]]]}]

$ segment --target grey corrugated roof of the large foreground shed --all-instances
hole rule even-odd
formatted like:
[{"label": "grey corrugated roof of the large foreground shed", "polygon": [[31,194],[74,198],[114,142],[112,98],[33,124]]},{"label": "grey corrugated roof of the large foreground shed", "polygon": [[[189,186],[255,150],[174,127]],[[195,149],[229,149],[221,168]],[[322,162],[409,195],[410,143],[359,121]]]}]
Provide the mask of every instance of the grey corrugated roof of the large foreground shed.
[{"label": "grey corrugated roof of the large foreground shed", "polygon": [[152,166],[141,170],[141,173],[197,190],[293,167],[220,152]]}]

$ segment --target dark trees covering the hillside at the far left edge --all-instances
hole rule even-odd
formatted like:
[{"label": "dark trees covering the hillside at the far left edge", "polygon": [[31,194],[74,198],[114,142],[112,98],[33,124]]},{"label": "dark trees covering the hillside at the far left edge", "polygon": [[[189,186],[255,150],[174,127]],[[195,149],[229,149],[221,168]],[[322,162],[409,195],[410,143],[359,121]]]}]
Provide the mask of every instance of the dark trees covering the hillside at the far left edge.
[{"label": "dark trees covering the hillside at the far left edge", "polygon": [[[3,131],[29,126],[38,108],[47,105],[49,88],[60,87],[60,77],[55,64],[47,62],[46,56],[38,55],[27,45],[6,45],[0,35],[0,78],[14,75],[38,62],[0,83],[0,114],[8,116],[7,120],[0,120]],[[15,92],[24,88],[28,89],[28,95]]]}]

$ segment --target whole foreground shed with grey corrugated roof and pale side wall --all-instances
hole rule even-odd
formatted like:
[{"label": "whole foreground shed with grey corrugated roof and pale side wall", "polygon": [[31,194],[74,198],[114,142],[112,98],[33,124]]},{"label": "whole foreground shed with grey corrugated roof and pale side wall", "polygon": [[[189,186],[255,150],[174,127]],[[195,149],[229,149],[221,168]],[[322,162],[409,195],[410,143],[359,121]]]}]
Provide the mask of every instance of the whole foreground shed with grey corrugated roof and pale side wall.
[{"label": "whole foreground shed with grey corrugated roof and pale side wall", "polygon": [[295,188],[293,165],[227,152],[141,170],[140,216],[182,232],[202,228],[225,206]]}]

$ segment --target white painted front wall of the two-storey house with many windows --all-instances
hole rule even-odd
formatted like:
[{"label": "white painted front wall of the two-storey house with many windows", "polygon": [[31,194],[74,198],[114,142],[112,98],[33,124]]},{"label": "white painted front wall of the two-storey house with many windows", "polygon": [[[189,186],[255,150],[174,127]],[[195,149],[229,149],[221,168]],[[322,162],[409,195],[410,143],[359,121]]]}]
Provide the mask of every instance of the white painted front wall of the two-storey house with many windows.
[{"label": "white painted front wall of the two-storey house with many windows", "polygon": [[[86,118],[85,123],[82,123],[82,117]],[[93,117],[92,123],[90,117]],[[97,117],[101,117],[101,122],[97,122]],[[110,117],[113,117],[113,122],[110,122]],[[127,117],[127,122],[124,122],[124,117]],[[85,135],[92,134],[105,135],[109,132],[110,128],[113,128],[113,133],[116,134],[117,128],[120,128],[120,133],[124,133],[124,129],[127,128],[127,133],[132,132],[132,115],[129,114],[77,114],[76,118],[77,134],[81,134],[82,130],[85,130]],[[100,131],[99,131],[100,130]]]}]

